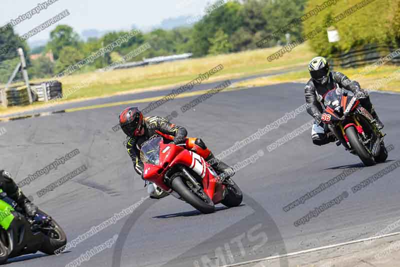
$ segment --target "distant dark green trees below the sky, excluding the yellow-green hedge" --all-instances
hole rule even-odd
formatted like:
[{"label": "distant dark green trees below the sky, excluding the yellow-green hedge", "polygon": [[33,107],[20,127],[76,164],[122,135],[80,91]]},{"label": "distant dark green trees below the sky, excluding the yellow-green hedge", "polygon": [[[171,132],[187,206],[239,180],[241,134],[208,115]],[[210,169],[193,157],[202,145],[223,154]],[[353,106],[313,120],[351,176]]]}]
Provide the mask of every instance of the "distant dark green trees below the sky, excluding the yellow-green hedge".
[{"label": "distant dark green trees below the sky, excluding the yellow-green hedge", "polygon": [[[144,43],[149,43],[151,49],[130,61],[190,52],[194,57],[202,57],[208,54],[256,49],[258,41],[284,27],[293,19],[301,17],[306,0],[213,0],[210,2],[212,4],[205,9],[204,17],[194,25],[172,30],[155,29],[148,33],[138,34],[128,42],[123,42],[120,47],[114,48],[112,52],[84,66],[79,72],[104,68],[113,62],[118,62],[121,57]],[[310,2],[315,1],[310,0]],[[287,29],[290,40],[300,38],[302,32],[301,24]],[[59,25],[50,33],[50,41],[44,51],[42,47],[32,51],[32,53],[43,53],[51,50],[56,60],[55,65],[41,58],[29,66],[27,58],[29,74],[31,78],[38,78],[59,73],[126,34],[127,32],[124,31],[115,31],[101,38],[89,38],[86,42],[82,42],[71,27]],[[271,40],[268,46],[283,44],[286,41],[285,35],[282,34]],[[19,41],[12,30],[7,35],[0,33],[0,49],[3,44],[14,48],[25,45]],[[27,54],[26,47],[25,54]]]}]

